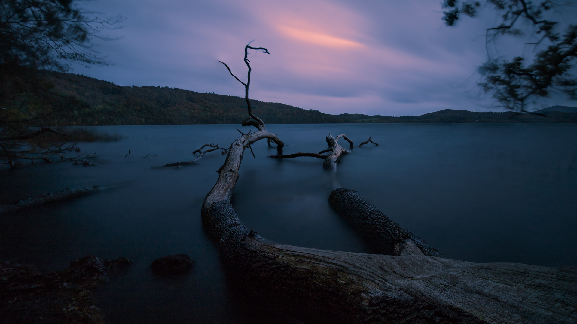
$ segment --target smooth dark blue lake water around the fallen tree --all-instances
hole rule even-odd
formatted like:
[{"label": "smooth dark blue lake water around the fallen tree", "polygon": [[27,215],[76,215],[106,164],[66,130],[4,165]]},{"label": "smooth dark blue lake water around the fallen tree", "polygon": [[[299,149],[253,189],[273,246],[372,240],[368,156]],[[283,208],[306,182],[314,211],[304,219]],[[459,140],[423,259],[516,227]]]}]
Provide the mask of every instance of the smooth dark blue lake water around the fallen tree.
[{"label": "smooth dark blue lake water around the fallen tree", "polygon": [[[3,165],[0,204],[66,188],[115,187],[0,216],[0,259],[35,263],[46,271],[65,269],[85,254],[134,259],[96,292],[109,323],[290,322],[230,288],[203,233],[200,207],[225,156],[211,152],[190,167],[151,168],[192,160],[190,152],[206,143],[228,146],[239,135],[237,127],[98,127],[126,136],[79,145],[82,153],[98,152],[99,166],[37,162],[11,171]],[[254,144],[256,159],[246,152],[233,204],[247,227],[264,238],[369,252],[328,206],[330,191],[340,183],[444,257],[577,266],[577,125],[268,125],[268,130],[289,144],[284,153],[319,152],[327,147],[328,133],[346,133],[357,145],[372,135],[379,146],[355,147],[334,175],[323,171],[320,159],[273,160],[267,155],[275,149],[265,141]],[[133,153],[124,157],[128,150]],[[178,253],[195,259],[192,273],[170,280],[153,276],[149,264],[155,258]]]}]

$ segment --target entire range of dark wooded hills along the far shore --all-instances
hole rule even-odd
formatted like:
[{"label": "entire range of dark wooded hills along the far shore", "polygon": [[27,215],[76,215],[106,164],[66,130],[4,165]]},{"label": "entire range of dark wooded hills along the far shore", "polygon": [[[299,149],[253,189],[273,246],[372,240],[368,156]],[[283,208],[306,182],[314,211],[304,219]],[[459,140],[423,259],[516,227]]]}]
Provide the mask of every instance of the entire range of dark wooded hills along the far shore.
[{"label": "entire range of dark wooded hills along the far shore", "polygon": [[[242,97],[198,93],[160,86],[118,86],[78,74],[50,73],[54,92],[76,97],[66,105],[59,125],[173,125],[241,122],[248,118]],[[577,113],[546,112],[540,115],[514,112],[441,110],[421,116],[363,114],[329,115],[282,103],[251,100],[254,114],[266,123],[559,123],[577,122]]]}]

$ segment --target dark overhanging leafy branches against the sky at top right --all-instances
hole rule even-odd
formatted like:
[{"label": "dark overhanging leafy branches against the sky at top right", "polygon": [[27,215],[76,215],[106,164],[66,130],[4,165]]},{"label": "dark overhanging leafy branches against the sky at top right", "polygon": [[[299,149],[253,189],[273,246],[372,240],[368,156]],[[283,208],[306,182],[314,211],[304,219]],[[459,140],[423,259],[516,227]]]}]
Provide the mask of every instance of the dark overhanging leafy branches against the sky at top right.
[{"label": "dark overhanging leafy branches against the sky at top right", "polygon": [[[500,106],[517,112],[527,112],[527,104],[539,97],[548,97],[556,89],[571,99],[577,99],[577,78],[572,68],[577,56],[577,26],[568,25],[566,31],[556,31],[559,21],[553,21],[556,3],[550,0],[486,0],[488,6],[499,13],[499,23],[486,29],[486,42],[495,43],[503,35],[520,36],[526,34],[527,43],[534,46],[532,63],[521,56],[510,61],[493,58],[489,52],[487,61],[478,69],[484,76],[479,86],[491,92]],[[443,20],[454,26],[462,14],[469,17],[478,15],[481,3],[478,1],[445,0]],[[523,33],[523,30],[525,33]],[[540,50],[538,50],[540,49]]]}]

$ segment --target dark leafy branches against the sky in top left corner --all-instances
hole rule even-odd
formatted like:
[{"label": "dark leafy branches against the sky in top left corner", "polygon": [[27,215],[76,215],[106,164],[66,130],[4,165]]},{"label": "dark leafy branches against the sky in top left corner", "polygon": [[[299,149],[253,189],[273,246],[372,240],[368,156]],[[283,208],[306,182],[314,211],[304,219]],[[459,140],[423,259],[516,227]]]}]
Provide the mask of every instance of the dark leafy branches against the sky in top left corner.
[{"label": "dark leafy branches against the sky in top left corner", "polygon": [[106,64],[91,40],[122,17],[98,17],[76,0],[4,0],[0,5],[0,62],[67,70],[63,62]]}]

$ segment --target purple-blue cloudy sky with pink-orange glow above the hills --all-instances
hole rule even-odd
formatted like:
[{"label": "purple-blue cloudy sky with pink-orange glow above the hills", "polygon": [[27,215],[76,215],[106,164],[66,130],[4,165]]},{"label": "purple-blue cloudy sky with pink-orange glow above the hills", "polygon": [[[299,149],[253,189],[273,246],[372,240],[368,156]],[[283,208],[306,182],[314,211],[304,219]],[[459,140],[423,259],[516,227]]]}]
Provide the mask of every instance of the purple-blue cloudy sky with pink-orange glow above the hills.
[{"label": "purple-blue cloudy sky with pink-orange glow above the hills", "polygon": [[[423,0],[98,0],[88,10],[122,15],[122,28],[95,40],[108,66],[72,66],[117,85],[169,86],[250,98],[328,114],[421,115],[442,109],[501,111],[477,86],[484,10],[446,27],[440,1]],[[575,17],[575,16],[571,16]],[[521,48],[524,40],[505,47]],[[577,106],[553,96],[535,106]]]}]

